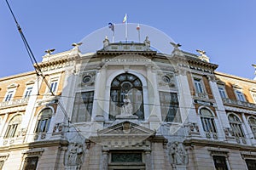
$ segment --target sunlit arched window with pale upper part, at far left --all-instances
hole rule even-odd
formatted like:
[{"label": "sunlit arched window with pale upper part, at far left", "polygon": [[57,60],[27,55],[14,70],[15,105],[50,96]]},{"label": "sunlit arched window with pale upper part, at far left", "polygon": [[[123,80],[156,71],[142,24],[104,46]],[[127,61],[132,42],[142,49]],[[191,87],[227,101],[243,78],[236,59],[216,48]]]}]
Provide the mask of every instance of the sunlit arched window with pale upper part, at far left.
[{"label": "sunlit arched window with pale upper part, at far left", "polygon": [[21,123],[21,115],[14,116],[7,127],[6,133],[4,134],[4,138],[14,138],[17,137],[20,131],[20,123]]}]

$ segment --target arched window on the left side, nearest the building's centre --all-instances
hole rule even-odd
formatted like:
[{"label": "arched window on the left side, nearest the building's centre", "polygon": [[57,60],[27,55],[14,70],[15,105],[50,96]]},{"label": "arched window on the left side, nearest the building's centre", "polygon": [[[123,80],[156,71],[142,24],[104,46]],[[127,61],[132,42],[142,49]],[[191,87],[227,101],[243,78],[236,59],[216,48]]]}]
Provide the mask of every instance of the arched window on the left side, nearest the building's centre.
[{"label": "arched window on the left side, nearest the building's centre", "polygon": [[46,108],[40,112],[40,114],[38,115],[38,122],[35,133],[43,133],[48,131],[51,116],[52,110],[50,108]]}]

